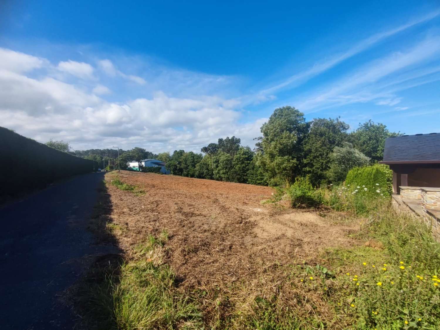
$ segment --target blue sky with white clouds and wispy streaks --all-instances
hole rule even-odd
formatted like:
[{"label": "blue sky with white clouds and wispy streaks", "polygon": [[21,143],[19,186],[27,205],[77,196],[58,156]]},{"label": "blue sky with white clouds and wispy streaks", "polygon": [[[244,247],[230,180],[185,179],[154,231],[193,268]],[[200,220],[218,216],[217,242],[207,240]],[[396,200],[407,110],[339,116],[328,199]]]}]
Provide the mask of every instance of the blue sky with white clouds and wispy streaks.
[{"label": "blue sky with white clouds and wispy streaks", "polygon": [[279,106],[440,132],[438,1],[10,1],[0,122],[74,149],[253,146]]}]

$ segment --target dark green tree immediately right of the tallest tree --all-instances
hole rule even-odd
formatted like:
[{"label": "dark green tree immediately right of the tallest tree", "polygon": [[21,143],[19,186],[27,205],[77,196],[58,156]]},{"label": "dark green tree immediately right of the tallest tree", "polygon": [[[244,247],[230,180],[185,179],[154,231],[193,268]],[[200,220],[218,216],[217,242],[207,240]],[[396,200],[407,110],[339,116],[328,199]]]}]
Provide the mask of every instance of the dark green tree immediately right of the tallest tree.
[{"label": "dark green tree immediately right of the tallest tree", "polygon": [[316,187],[328,180],[330,154],[334,147],[340,147],[347,139],[349,126],[339,118],[316,118],[310,124],[310,131],[302,144],[302,172]]}]

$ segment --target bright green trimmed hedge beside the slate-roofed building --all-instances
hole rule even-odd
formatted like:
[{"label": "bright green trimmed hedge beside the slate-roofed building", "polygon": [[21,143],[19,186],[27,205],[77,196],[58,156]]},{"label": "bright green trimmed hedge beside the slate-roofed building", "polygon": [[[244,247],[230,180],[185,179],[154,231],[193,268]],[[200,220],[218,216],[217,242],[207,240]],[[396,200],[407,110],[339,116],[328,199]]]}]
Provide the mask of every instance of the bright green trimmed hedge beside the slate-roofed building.
[{"label": "bright green trimmed hedge beside the slate-roofed building", "polygon": [[355,167],[348,171],[345,184],[365,186],[373,192],[379,189],[382,194],[392,193],[392,171],[388,165]]}]

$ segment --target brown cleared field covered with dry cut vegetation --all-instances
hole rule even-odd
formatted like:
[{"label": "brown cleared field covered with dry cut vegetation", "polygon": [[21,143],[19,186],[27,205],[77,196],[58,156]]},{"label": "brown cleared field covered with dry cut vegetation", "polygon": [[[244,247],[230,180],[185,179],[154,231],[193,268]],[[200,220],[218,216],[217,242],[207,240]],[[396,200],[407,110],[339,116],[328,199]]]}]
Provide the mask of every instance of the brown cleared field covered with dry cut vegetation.
[{"label": "brown cleared field covered with dry cut vegetation", "polygon": [[355,227],[262,204],[275,192],[270,187],[127,171],[108,173],[106,181],[116,177],[145,191],[136,196],[107,185],[120,246],[130,257],[149,234],[168,231],[167,261],[183,288],[249,279],[271,265],[310,261],[322,248],[354,244],[347,234]]}]

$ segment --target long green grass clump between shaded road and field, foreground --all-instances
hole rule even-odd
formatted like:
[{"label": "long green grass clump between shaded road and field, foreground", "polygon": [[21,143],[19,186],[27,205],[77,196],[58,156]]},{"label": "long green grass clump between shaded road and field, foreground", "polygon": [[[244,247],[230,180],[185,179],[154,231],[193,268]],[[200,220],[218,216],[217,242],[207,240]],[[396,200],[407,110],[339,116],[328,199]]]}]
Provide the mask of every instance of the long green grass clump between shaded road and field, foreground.
[{"label": "long green grass clump between shaded road and field, foreground", "polygon": [[[164,263],[164,231],[136,246],[134,259],[88,287],[86,307],[93,329],[201,329],[198,303],[176,290],[176,275]],[[102,315],[105,315],[103,318]]]}]

